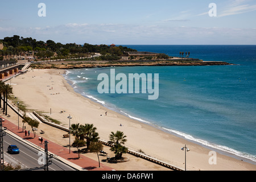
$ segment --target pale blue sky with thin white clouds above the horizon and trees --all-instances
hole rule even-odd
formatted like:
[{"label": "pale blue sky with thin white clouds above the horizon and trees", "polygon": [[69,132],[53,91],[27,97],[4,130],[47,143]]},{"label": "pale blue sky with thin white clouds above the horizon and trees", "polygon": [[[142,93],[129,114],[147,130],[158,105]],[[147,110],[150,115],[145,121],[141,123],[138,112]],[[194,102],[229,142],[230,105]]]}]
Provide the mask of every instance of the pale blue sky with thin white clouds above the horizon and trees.
[{"label": "pale blue sky with thin white clouds above the horizon and trees", "polygon": [[2,1],[0,39],[13,35],[63,44],[256,44],[256,1]]}]

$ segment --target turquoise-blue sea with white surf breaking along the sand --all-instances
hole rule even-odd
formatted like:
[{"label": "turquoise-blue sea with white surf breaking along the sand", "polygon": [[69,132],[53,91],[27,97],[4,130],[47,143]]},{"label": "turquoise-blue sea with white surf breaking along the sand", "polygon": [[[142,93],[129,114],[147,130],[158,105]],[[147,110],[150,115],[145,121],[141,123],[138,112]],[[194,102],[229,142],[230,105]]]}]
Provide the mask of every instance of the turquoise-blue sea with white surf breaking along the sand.
[{"label": "turquoise-blue sea with white surf breaking along the sand", "polygon": [[[105,107],[180,137],[256,162],[256,46],[122,45],[235,65],[115,67],[68,70],[77,93]],[[158,73],[159,97],[148,94],[99,94],[100,73]]]}]

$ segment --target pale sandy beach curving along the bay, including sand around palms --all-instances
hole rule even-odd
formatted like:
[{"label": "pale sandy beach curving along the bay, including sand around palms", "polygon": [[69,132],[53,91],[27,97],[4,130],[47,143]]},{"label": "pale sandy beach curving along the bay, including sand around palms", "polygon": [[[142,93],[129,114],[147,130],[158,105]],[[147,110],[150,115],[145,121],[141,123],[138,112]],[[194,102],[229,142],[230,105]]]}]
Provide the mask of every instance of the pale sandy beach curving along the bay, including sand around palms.
[{"label": "pale sandy beach curving along the bay, including sand around palms", "polygon": [[[23,101],[27,105],[27,109],[49,115],[51,118],[60,121],[64,127],[69,127],[69,119],[67,118],[69,114],[72,116],[71,123],[80,123],[80,125],[93,123],[97,127],[97,132],[102,140],[108,141],[112,131],[123,131],[127,136],[126,147],[135,151],[142,150],[149,156],[182,169],[184,168],[184,151],[180,149],[186,144],[190,149],[187,152],[187,170],[256,170],[254,164],[247,163],[240,158],[236,159],[222,155],[217,151],[217,164],[209,164],[209,159],[212,157],[209,155],[211,149],[115,113],[89,100],[89,98],[75,93],[64,79],[64,72],[64,70],[57,69],[29,69],[26,74],[11,79],[14,96]],[[105,115],[106,111],[108,112],[107,115]],[[10,115],[13,117],[14,114],[11,113]],[[13,122],[18,123],[15,117],[13,117]],[[120,123],[122,123],[122,126],[119,126]],[[44,135],[53,142],[62,145],[68,144],[68,139],[62,137],[63,134],[66,134],[64,131],[42,123],[38,130],[46,131]],[[73,150],[76,150],[76,148]],[[86,155],[97,160],[95,154]],[[124,156],[126,155],[124,154]],[[152,167],[150,167],[150,162],[143,159],[137,161],[137,163],[135,160],[139,159],[130,160],[125,164],[104,164],[114,166],[119,170],[168,170],[164,167],[158,167],[156,164],[152,164]]]}]

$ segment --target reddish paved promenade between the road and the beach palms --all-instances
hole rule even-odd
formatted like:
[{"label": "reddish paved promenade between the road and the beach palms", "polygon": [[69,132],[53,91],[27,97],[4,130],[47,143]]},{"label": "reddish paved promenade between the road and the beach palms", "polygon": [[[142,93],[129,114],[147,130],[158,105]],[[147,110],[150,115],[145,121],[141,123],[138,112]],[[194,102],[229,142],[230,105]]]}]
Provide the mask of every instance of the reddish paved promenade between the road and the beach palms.
[{"label": "reddish paved promenade between the road and the beach palms", "polygon": [[[30,143],[31,145],[44,147],[44,145],[42,145],[40,140],[38,139],[38,137],[41,137],[40,135],[36,133],[36,137],[33,138],[34,133],[31,132],[30,137],[25,136],[25,133],[22,132],[22,127],[19,127],[19,130],[18,130],[18,126],[14,125],[10,121],[8,121],[8,119],[6,118],[3,118],[3,119],[5,119],[5,121],[2,122],[3,127],[7,128],[8,133],[18,135],[21,140],[24,140]],[[104,164],[101,164],[100,165],[101,167],[99,168],[98,161],[90,158],[86,158],[85,156],[82,156],[82,155],[81,155],[81,158],[78,158],[77,154],[75,154],[72,150],[71,150],[71,154],[69,154],[68,147],[60,146],[59,144],[53,143],[46,138],[43,138],[43,139],[48,141],[48,152],[54,154],[55,157],[62,159],[62,161],[64,163],[69,164],[69,166],[72,166],[79,170],[85,170],[85,171],[112,171],[113,170],[113,168],[105,166]],[[44,150],[44,148],[42,149]]]}]

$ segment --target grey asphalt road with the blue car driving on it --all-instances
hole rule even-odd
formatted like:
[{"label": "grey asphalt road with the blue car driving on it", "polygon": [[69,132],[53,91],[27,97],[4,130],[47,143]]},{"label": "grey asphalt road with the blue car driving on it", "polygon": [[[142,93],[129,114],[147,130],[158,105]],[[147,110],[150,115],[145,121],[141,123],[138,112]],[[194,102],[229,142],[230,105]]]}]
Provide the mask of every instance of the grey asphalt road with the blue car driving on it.
[{"label": "grey asphalt road with the blue car driving on it", "polygon": [[[19,154],[9,154],[7,152],[7,148],[10,144],[15,144],[19,147]],[[44,148],[44,143],[42,146]],[[28,168],[38,168],[38,167],[44,167],[44,164],[42,162],[45,161],[43,158],[44,152],[39,152],[38,149],[29,146],[26,143],[23,143],[22,141],[12,137],[9,134],[6,134],[3,137],[3,159],[5,162],[12,164],[14,166],[15,164],[19,165],[22,169],[28,169]],[[60,160],[57,160],[55,158],[49,159],[52,160],[52,164],[48,167],[49,171],[74,171],[72,167],[69,167],[67,164],[61,162]],[[44,169],[37,169],[44,171]]]}]

